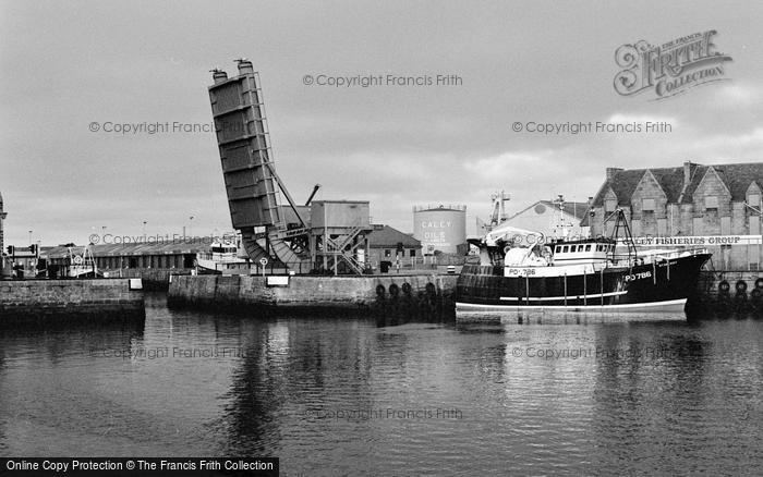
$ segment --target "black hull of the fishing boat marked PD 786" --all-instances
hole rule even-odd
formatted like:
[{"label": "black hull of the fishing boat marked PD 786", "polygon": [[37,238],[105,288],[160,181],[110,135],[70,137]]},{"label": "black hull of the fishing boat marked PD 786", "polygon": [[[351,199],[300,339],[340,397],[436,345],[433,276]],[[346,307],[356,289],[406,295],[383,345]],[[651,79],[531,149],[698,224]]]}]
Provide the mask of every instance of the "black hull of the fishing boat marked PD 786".
[{"label": "black hull of the fishing boat marked PD 786", "polygon": [[[456,310],[682,311],[707,259],[710,254],[697,254],[567,276],[559,274],[564,267],[512,269],[518,276],[504,277],[504,267],[465,266],[457,283]],[[549,272],[554,276],[538,276]]]}]

